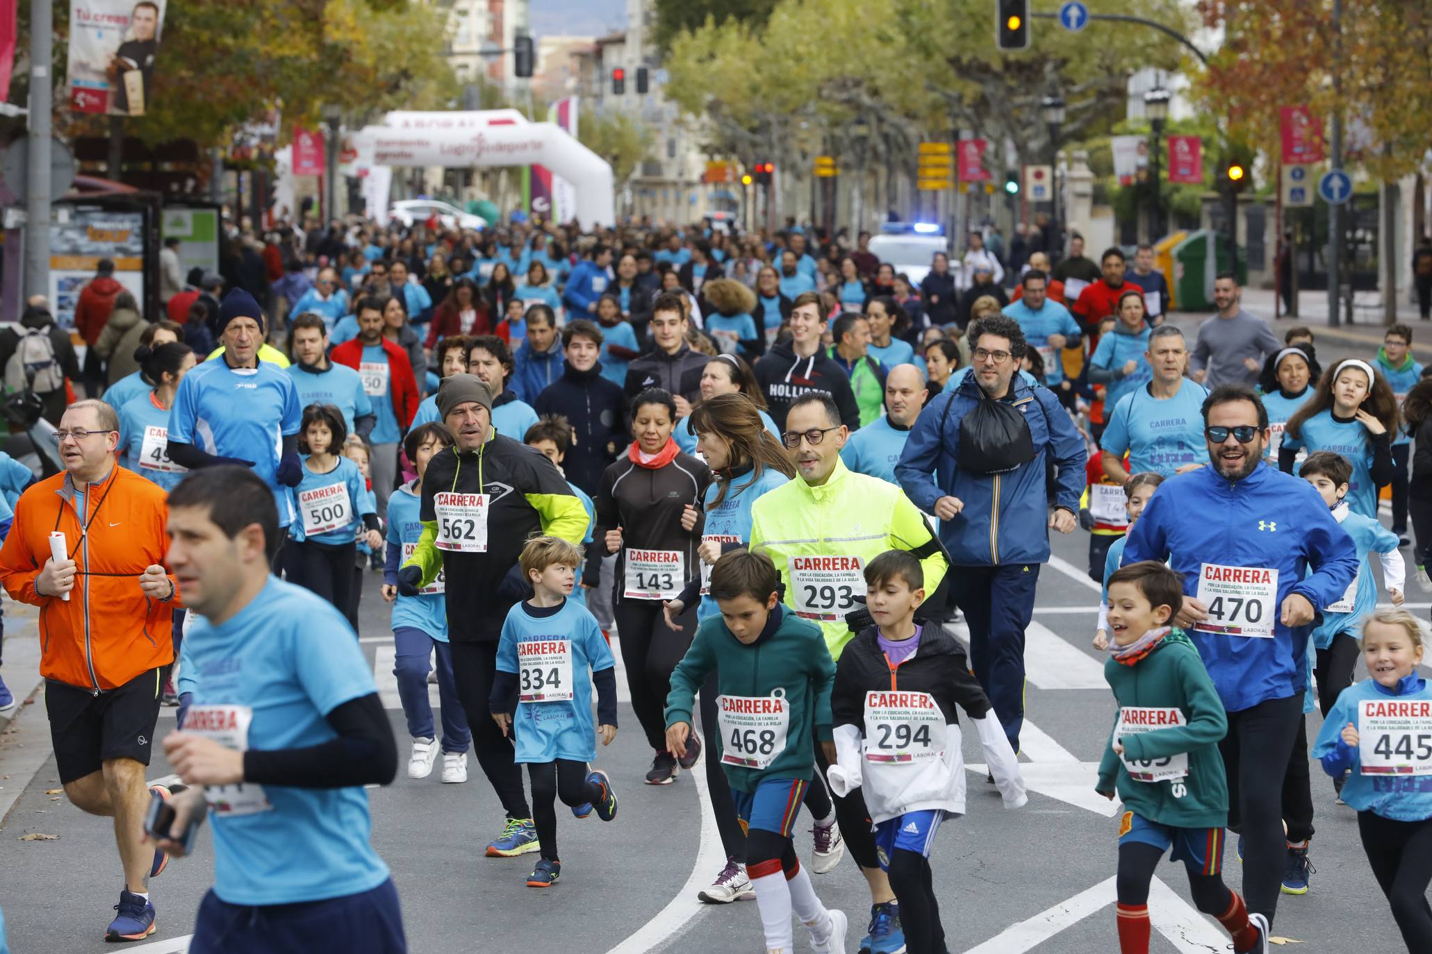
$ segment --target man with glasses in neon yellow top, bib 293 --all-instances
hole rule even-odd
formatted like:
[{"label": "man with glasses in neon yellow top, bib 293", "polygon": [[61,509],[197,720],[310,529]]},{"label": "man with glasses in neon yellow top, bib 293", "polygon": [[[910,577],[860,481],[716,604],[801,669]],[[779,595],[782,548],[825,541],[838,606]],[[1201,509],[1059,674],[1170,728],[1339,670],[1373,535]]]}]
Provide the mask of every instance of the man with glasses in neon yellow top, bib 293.
[{"label": "man with glasses in neon yellow top, bib 293", "polygon": [[[780,571],[785,601],[825,634],[833,659],[856,631],[871,625],[865,608],[865,565],[888,549],[914,554],[931,594],[918,618],[937,621],[945,598],[941,582],[948,562],[925,516],[898,486],[853,473],[841,461],[851,429],[841,408],[823,390],[798,396],[786,412],[782,439],[796,465],[796,479],[762,495],[750,508],[750,549],[763,551]],[[833,754],[833,749],[832,749]],[[828,754],[816,747],[822,777]],[[813,812],[812,812],[813,814]],[[871,887],[869,934],[862,951],[894,954],[905,950],[899,905],[881,870],[869,812],[859,790],[835,800],[835,818],[851,857]],[[833,825],[815,828],[816,851],[836,837]],[[813,868],[818,865],[812,865]]]}]

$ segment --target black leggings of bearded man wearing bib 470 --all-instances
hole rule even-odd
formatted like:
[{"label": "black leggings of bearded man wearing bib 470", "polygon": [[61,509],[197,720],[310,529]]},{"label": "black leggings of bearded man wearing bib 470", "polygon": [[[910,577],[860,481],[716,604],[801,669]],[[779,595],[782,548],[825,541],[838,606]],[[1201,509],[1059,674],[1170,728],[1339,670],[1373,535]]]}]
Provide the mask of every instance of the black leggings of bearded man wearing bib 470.
[{"label": "black leggings of bearded man wearing bib 470", "polygon": [[[1243,835],[1243,898],[1249,911],[1273,923],[1283,884],[1283,777],[1303,721],[1303,694],[1264,699],[1229,712],[1229,734],[1219,742],[1229,778],[1229,828]],[[1307,834],[1287,827],[1287,838]]]}]

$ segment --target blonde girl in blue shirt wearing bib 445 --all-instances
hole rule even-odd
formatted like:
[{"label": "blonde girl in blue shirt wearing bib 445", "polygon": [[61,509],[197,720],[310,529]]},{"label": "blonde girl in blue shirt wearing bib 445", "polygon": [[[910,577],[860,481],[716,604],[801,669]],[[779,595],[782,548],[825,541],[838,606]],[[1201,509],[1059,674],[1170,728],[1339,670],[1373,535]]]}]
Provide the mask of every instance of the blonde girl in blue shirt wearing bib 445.
[{"label": "blonde girl in blue shirt wearing bib 445", "polygon": [[1358,810],[1372,874],[1392,905],[1409,953],[1432,951],[1432,692],[1418,675],[1422,628],[1406,609],[1378,609],[1362,629],[1370,679],[1343,689],[1313,757]]}]

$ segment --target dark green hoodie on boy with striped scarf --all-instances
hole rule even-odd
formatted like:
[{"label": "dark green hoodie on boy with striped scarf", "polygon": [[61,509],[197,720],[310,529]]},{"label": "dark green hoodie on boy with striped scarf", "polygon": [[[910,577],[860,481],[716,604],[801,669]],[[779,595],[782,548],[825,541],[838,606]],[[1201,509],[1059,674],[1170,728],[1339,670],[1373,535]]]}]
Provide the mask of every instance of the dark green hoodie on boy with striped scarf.
[{"label": "dark green hoodie on boy with striped scarf", "polygon": [[[1104,744],[1097,791],[1118,791],[1124,810],[1160,825],[1221,828],[1229,821],[1229,785],[1223,774],[1219,739],[1229,719],[1203,659],[1181,629],[1170,629],[1158,645],[1134,665],[1114,658],[1104,664],[1104,678],[1120,709],[1127,707],[1177,708],[1186,725],[1124,735],[1130,759],[1161,759],[1186,752],[1189,774],[1181,780],[1140,782],[1128,775],[1114,754],[1114,732]],[[1118,725],[1118,715],[1114,715]]]}]

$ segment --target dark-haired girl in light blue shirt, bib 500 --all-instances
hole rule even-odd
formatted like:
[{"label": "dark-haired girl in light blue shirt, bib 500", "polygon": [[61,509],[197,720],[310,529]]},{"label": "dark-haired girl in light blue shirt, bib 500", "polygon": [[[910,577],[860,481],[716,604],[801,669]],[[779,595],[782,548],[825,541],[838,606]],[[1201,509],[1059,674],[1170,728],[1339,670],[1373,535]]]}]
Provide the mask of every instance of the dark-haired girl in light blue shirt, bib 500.
[{"label": "dark-haired girl in light blue shirt, bib 500", "polygon": [[348,438],[344,415],[334,405],[308,405],[298,431],[304,479],[294,488],[298,518],[289,525],[299,584],[314,591],[358,631],[352,599],[357,538],[382,546],[378,516],[368,502],[368,482],[358,465],[338,451]]}]

